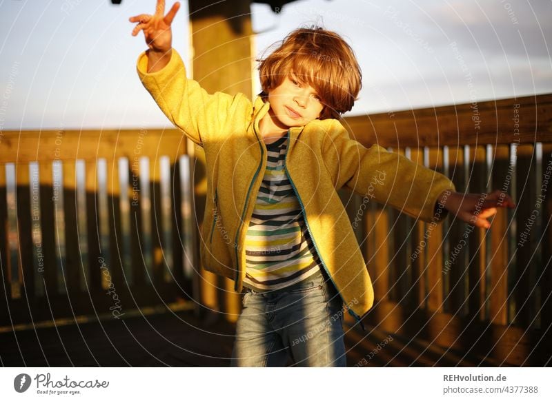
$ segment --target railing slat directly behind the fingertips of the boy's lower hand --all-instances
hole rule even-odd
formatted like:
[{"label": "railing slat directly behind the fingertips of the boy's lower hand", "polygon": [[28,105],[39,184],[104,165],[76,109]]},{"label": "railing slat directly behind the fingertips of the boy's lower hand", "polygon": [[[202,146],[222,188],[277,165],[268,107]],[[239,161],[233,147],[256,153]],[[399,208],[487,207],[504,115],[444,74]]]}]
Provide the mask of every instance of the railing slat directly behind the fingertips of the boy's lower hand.
[{"label": "railing slat directly behind the fingertips of the boy's lower hand", "polygon": [[[510,148],[507,145],[498,145],[493,149],[493,189],[511,193],[512,175]],[[508,323],[508,214],[507,210],[498,208],[491,225],[489,320],[497,325]]]}]

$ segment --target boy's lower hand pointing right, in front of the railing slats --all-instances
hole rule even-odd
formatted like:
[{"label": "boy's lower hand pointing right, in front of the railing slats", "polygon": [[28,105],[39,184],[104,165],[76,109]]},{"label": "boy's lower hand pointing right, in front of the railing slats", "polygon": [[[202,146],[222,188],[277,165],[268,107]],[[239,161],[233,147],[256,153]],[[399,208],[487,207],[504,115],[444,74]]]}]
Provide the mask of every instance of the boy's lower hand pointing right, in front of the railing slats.
[{"label": "boy's lower hand pointing right, in front of the railing slats", "polygon": [[487,218],[496,214],[497,207],[515,207],[512,198],[500,191],[481,195],[445,191],[437,202],[460,220],[481,228],[491,227]]}]

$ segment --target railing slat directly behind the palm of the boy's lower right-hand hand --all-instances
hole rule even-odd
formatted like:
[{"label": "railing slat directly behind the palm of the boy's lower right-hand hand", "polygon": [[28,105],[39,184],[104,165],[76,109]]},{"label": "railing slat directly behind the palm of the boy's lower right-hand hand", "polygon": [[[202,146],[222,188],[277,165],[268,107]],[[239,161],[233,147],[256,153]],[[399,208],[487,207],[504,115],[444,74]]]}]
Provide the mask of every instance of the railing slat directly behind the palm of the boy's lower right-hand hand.
[{"label": "railing slat directly behind the palm of the boy's lower right-hand hand", "polygon": [[[470,147],[469,192],[486,194],[487,172],[486,151],[482,146]],[[484,198],[480,198],[480,207]],[[473,225],[467,227],[469,232],[468,256],[468,313],[469,316],[484,320],[486,303],[486,247],[485,229]]]}]

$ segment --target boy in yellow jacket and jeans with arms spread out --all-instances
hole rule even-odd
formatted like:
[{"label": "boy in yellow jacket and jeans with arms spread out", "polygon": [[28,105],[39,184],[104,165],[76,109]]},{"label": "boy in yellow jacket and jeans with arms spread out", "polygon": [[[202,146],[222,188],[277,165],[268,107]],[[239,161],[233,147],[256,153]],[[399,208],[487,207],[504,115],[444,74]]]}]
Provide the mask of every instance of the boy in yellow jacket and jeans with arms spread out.
[{"label": "boy in yellow jacket and jeans with arms spread out", "polygon": [[158,0],[154,15],[130,18],[149,47],[137,71],[168,119],[205,151],[201,259],[244,291],[232,365],[284,366],[290,357],[295,366],[346,366],[342,307],[360,320],[373,289],[337,189],[427,221],[444,207],[477,227],[489,227],[501,194],[481,203],[441,174],[351,140],[337,119],[353,107],[362,74],[334,32],[291,32],[261,61],[263,92],[253,104],[243,94],[207,94],[171,48],[178,9],[164,16]]}]

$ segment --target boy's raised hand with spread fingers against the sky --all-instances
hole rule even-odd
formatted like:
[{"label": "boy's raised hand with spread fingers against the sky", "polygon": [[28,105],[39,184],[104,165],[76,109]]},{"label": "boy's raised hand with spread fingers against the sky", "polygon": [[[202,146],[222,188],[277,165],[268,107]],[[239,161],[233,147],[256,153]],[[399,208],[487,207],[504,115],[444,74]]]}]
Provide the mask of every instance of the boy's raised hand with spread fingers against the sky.
[{"label": "boy's raised hand with spread fingers against the sky", "polygon": [[138,22],[132,30],[132,36],[136,36],[141,30],[144,31],[146,44],[154,52],[166,53],[172,48],[172,32],[170,24],[175,19],[180,3],[177,1],[164,16],[165,0],[157,0],[155,14],[139,14],[128,19],[130,22]]}]

